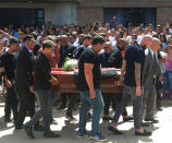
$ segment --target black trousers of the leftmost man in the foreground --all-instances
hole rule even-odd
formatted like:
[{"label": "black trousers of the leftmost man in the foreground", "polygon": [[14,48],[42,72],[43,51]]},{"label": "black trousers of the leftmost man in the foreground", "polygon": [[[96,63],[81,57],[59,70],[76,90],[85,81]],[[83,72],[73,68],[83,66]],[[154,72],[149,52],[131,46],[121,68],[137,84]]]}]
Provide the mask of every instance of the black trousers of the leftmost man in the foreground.
[{"label": "black trousers of the leftmost man in the foreground", "polygon": [[10,119],[11,110],[12,110],[14,121],[16,120],[16,118],[17,118],[17,104],[19,104],[19,99],[16,96],[15,85],[13,85],[10,88],[8,87],[7,95],[5,95],[4,119]]}]

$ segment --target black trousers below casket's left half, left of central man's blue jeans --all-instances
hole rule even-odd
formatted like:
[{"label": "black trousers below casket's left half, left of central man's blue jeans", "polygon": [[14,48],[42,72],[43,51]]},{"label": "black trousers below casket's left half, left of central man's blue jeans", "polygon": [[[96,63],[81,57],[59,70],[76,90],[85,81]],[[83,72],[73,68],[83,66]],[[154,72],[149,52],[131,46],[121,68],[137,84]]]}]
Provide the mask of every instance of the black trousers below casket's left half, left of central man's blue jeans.
[{"label": "black trousers below casket's left half, left of central man's blue jeans", "polygon": [[70,99],[67,109],[66,109],[67,116],[72,116],[73,108],[77,102],[77,96],[78,96],[77,94],[61,94],[62,105],[66,106],[67,97]]}]

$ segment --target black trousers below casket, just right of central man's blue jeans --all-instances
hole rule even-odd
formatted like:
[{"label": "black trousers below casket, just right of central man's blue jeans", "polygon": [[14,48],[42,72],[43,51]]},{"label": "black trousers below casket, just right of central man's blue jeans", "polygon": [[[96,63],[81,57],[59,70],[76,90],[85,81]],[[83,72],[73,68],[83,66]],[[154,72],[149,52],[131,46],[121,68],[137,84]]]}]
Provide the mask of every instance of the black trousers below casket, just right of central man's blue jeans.
[{"label": "black trousers below casket, just right of central man's blue jeans", "polygon": [[[102,94],[102,97],[105,102],[105,108],[103,108],[105,115],[109,115],[109,108],[111,106],[111,103],[113,110],[115,110],[116,106],[122,100],[122,94]],[[127,116],[126,108],[123,109],[122,116]]]}]

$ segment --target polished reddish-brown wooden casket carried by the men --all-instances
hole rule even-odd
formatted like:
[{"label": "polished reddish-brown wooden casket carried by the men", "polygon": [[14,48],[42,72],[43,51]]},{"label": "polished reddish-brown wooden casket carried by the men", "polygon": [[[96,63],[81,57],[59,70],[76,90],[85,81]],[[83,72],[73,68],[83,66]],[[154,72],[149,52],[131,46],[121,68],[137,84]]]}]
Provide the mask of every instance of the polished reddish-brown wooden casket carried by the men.
[{"label": "polished reddish-brown wooden casket carried by the men", "polygon": [[[115,70],[118,75],[121,74],[121,70],[114,68],[108,68],[106,70]],[[51,73],[59,81],[59,85],[53,87],[54,91],[59,93],[78,93],[74,75],[75,71],[77,71],[77,69],[65,71],[61,68],[52,68]],[[101,93],[122,93],[122,85],[119,84],[119,78],[101,79],[100,90]]]}]

